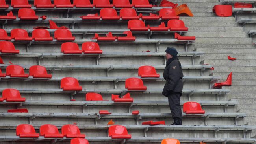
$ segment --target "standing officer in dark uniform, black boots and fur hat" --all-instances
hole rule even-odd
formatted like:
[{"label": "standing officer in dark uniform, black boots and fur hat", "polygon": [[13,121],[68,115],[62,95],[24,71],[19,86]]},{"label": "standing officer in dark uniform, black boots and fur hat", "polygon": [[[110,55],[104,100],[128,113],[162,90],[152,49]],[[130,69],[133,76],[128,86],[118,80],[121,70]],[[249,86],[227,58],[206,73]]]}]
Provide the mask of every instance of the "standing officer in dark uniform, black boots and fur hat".
[{"label": "standing officer in dark uniform, black boots and fur hat", "polygon": [[182,125],[182,112],[180,108],[180,96],[182,95],[182,69],[177,57],[177,50],[174,47],[168,47],[165,50],[166,67],[163,72],[163,78],[166,80],[162,94],[168,97],[171,109],[173,124]]}]

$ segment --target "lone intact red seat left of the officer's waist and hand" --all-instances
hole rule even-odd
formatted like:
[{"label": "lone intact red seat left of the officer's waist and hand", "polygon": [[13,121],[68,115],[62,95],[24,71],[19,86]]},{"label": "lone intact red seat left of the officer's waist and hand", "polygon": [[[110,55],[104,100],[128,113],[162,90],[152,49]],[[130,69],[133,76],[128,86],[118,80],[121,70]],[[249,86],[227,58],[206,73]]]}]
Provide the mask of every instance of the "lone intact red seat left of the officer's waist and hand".
[{"label": "lone intact red seat left of the officer's waist and hand", "polygon": [[125,88],[128,90],[147,90],[147,87],[143,85],[143,81],[138,78],[126,79]]}]

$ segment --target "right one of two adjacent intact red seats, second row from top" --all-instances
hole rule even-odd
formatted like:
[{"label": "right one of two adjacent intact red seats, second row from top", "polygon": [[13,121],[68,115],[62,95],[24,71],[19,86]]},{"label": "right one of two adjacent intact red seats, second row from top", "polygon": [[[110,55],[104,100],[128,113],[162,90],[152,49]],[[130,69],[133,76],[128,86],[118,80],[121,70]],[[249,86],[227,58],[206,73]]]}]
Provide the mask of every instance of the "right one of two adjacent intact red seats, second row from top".
[{"label": "right one of two adjacent intact red seats, second row from top", "polygon": [[120,18],[122,20],[139,20],[139,16],[135,9],[132,8],[124,8],[120,10]]}]

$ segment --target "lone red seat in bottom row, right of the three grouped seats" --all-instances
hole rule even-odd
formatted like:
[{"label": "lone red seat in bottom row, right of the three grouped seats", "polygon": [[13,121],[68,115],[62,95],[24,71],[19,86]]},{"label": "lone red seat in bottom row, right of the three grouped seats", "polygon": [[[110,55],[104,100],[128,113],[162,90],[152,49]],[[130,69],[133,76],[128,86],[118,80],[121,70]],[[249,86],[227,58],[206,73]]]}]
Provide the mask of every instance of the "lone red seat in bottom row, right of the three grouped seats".
[{"label": "lone red seat in bottom row, right of the three grouped seats", "polygon": [[116,125],[108,128],[108,136],[112,139],[131,139],[132,135],[128,135],[126,127]]}]

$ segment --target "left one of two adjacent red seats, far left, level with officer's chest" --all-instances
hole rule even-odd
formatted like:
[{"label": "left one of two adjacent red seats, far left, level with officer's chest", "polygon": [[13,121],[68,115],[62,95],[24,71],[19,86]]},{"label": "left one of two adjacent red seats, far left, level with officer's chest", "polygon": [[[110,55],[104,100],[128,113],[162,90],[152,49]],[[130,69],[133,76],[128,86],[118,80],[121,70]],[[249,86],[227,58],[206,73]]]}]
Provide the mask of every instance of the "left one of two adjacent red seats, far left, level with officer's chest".
[{"label": "left one of two adjacent red seats, far left, level with officer's chest", "polygon": [[8,65],[6,67],[6,75],[10,77],[28,78],[28,74],[25,74],[24,69],[19,65]]}]

